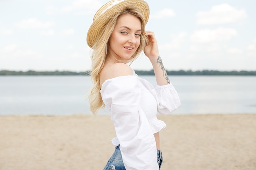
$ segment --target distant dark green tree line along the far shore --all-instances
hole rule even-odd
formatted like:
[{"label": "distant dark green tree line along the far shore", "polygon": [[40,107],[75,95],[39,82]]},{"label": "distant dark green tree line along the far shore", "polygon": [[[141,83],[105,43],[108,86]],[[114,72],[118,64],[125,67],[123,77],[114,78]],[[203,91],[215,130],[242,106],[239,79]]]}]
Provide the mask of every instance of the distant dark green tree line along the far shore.
[{"label": "distant dark green tree line along the far shore", "polygon": [[[154,71],[135,71],[138,75],[154,75]],[[256,71],[166,71],[168,75],[256,75]],[[73,71],[0,71],[0,75],[90,75],[90,71],[73,72]]]}]

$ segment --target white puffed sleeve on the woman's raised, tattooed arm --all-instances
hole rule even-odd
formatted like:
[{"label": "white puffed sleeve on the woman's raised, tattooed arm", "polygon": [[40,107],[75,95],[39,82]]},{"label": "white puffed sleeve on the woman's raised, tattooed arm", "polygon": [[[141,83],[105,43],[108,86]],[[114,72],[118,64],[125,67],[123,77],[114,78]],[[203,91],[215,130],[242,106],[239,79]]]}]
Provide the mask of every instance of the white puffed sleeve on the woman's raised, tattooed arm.
[{"label": "white puffed sleeve on the woman's raised, tattooed arm", "polygon": [[163,86],[157,85],[155,91],[157,93],[158,112],[160,114],[170,114],[180,106],[180,98],[171,83]]}]

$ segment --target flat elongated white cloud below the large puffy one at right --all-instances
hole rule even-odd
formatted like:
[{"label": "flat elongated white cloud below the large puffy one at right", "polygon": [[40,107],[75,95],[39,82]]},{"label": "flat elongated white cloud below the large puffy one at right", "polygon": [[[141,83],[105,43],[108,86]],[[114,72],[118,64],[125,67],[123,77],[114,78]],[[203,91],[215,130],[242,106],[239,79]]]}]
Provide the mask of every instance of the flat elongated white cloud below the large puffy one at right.
[{"label": "flat elongated white cloud below the large puffy one at right", "polygon": [[202,29],[202,30],[195,31],[191,35],[190,39],[191,39],[191,42],[209,43],[209,42],[227,41],[236,35],[237,35],[237,31],[235,29],[228,29],[228,28],[218,28],[215,30]]}]

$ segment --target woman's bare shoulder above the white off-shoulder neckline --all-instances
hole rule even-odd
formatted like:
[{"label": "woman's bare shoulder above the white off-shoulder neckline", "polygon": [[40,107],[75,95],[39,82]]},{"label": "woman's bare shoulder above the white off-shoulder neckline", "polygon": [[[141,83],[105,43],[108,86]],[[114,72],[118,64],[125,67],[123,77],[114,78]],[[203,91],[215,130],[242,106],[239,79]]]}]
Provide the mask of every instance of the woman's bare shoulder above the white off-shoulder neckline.
[{"label": "woman's bare shoulder above the white off-shoulder neckline", "polygon": [[132,69],[125,63],[115,63],[105,65],[100,74],[101,86],[107,79],[115,77],[133,75]]}]

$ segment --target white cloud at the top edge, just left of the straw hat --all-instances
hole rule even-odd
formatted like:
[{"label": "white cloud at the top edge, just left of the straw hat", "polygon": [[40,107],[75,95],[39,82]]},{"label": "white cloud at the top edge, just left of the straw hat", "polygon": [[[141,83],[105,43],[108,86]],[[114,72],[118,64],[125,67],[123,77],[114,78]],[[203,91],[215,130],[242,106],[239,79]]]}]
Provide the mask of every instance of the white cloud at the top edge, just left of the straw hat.
[{"label": "white cloud at the top edge, just left of the straw hat", "polygon": [[97,0],[76,0],[70,6],[62,7],[61,11],[70,12],[77,9],[98,9],[101,7],[101,3]]}]

